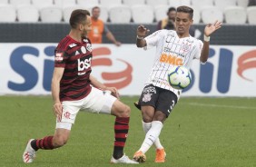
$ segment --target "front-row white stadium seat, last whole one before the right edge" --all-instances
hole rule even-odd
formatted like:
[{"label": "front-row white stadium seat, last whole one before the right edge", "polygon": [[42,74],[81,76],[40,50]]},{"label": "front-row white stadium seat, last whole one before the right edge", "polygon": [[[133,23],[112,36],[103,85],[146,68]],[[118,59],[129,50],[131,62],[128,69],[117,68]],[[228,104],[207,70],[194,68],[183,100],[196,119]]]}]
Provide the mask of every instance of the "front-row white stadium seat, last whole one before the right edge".
[{"label": "front-row white stadium seat, last whole one before the right edge", "polygon": [[229,6],[224,9],[227,24],[241,25],[246,23],[246,10],[241,6]]}]

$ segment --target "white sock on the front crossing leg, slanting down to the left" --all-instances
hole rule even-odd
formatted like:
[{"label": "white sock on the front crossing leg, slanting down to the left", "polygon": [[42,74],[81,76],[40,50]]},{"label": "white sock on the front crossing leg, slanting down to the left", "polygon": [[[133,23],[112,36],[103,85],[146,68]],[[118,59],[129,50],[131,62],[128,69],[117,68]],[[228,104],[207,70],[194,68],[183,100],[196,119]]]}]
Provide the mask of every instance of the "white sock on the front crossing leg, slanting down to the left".
[{"label": "white sock on the front crossing leg, slanting down to the left", "polygon": [[156,141],[159,134],[161,133],[162,126],[163,125],[160,121],[152,122],[152,126],[151,126],[150,130],[148,131],[148,133],[146,133],[146,136],[145,136],[143,144],[140,148],[140,151],[145,153],[150,149],[150,147],[153,145],[153,142]]}]

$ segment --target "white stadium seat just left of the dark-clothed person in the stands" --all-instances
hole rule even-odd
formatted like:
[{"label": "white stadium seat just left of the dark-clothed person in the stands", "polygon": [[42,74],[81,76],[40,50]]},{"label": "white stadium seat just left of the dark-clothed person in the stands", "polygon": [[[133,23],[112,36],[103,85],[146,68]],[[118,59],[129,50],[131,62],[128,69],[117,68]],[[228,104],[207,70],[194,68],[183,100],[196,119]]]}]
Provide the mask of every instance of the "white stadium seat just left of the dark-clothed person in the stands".
[{"label": "white stadium seat just left of the dark-clothed person in the stands", "polygon": [[151,5],[133,5],[131,8],[134,23],[153,23],[154,15]]}]

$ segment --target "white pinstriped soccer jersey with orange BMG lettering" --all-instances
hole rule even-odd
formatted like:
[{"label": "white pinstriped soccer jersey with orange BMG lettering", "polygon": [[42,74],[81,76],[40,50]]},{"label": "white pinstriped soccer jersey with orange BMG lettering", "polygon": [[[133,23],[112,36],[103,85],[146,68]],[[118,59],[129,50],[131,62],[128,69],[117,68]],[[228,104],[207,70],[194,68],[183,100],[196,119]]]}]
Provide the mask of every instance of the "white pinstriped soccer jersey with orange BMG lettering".
[{"label": "white pinstriped soccer jersey with orange BMG lettering", "polygon": [[200,58],[202,41],[192,36],[180,38],[173,30],[156,31],[145,37],[145,41],[145,50],[156,46],[153,68],[145,84],[170,90],[179,98],[181,91],[172,88],[167,81],[168,71],[174,65],[183,65],[190,69],[192,60]]}]

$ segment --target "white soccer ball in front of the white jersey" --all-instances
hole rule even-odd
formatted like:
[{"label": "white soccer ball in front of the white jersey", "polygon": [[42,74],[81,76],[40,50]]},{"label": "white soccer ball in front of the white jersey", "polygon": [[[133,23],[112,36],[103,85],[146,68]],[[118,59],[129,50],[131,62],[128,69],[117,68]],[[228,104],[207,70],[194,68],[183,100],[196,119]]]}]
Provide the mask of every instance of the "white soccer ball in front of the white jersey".
[{"label": "white soccer ball in front of the white jersey", "polygon": [[184,66],[173,66],[168,73],[167,80],[173,88],[184,89],[192,82],[192,74]]}]

